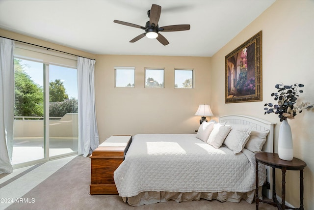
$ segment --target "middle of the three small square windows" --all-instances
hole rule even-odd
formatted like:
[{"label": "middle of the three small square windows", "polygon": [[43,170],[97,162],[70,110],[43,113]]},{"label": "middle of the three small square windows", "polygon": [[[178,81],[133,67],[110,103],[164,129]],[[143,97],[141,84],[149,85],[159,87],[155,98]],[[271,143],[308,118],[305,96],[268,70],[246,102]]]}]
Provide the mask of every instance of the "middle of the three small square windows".
[{"label": "middle of the three small square windows", "polygon": [[145,69],[145,88],[163,88],[163,69]]}]

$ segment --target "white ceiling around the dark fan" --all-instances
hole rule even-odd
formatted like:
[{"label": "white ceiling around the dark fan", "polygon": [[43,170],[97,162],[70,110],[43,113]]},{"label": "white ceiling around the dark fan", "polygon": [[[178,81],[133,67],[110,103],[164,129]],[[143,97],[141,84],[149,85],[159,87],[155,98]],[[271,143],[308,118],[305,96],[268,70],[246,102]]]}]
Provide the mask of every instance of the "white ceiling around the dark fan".
[{"label": "white ceiling around the dark fan", "polygon": [[[210,57],[274,1],[0,0],[0,28],[93,54]],[[170,42],[166,46],[147,37],[130,43],[144,30],[113,20],[145,27],[153,3],[161,6],[159,27],[191,29],[161,32]]]}]

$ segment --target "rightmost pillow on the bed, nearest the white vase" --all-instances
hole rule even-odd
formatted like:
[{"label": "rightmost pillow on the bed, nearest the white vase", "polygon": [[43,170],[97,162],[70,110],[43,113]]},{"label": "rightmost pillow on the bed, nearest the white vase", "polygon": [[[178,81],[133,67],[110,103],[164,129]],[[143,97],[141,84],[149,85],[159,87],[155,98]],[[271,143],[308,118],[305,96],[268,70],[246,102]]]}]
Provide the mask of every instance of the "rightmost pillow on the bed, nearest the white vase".
[{"label": "rightmost pillow on the bed, nearest the white vase", "polygon": [[266,142],[266,137],[268,133],[269,130],[265,131],[252,130],[249,141],[246,143],[244,148],[255,153],[262,152],[262,148]]}]

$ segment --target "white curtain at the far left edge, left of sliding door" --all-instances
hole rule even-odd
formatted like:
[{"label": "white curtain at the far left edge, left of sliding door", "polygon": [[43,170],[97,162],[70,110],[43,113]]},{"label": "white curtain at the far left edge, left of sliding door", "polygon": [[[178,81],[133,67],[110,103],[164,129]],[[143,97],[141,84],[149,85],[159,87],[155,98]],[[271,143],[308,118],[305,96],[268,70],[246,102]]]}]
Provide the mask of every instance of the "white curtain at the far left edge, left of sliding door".
[{"label": "white curtain at the far left edge, left of sliding door", "polygon": [[0,173],[12,173],[14,41],[0,37]]}]

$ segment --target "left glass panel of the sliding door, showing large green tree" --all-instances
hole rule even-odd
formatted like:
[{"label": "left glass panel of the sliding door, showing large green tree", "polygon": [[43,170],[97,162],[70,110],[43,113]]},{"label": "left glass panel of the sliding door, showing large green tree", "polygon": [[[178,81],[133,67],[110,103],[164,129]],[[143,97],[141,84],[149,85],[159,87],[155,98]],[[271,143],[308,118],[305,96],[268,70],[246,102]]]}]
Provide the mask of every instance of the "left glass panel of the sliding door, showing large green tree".
[{"label": "left glass panel of the sliding door, showing large green tree", "polygon": [[12,165],[45,158],[44,64],[15,59]]}]

